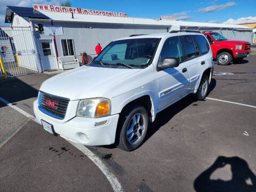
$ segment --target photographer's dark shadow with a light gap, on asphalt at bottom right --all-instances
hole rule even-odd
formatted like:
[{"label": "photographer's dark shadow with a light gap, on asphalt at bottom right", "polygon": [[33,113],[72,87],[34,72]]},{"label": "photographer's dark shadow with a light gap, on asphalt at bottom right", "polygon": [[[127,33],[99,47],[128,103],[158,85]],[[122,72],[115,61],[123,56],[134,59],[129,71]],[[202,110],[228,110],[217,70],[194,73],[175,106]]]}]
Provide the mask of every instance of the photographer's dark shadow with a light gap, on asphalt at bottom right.
[{"label": "photographer's dark shadow with a light gap, on asphalt at bottom right", "polygon": [[[231,180],[210,179],[215,170],[225,167],[226,165],[231,166]],[[197,192],[256,191],[256,177],[244,159],[239,157],[219,156],[207,170],[196,178],[194,188]]]}]

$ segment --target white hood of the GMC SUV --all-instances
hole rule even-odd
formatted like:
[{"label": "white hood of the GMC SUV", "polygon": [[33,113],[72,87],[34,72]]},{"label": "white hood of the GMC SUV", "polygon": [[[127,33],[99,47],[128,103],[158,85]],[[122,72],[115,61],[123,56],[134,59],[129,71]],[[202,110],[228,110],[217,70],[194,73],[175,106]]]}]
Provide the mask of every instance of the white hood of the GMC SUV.
[{"label": "white hood of the GMC SUV", "polygon": [[142,69],[78,67],[47,79],[40,91],[70,100],[106,97],[110,85]]}]

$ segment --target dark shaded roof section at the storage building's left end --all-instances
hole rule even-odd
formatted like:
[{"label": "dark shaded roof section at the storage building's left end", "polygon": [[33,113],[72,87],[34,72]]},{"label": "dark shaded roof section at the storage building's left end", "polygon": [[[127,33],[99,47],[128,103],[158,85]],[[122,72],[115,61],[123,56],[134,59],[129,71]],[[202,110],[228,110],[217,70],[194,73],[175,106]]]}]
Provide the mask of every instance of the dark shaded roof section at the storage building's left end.
[{"label": "dark shaded roof section at the storage building's left end", "polygon": [[49,19],[46,15],[35,11],[31,7],[19,7],[19,6],[7,6],[5,13],[5,22],[12,22],[13,13],[18,14],[20,17],[38,18],[38,19]]}]

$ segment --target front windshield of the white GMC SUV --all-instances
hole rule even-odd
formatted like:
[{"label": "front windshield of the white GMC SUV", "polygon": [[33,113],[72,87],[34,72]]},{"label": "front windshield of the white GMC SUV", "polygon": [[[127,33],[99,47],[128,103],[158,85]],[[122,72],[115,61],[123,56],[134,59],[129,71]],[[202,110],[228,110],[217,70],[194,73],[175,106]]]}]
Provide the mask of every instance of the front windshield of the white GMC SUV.
[{"label": "front windshield of the white GMC SUV", "polygon": [[88,66],[145,68],[153,60],[159,40],[159,38],[134,38],[114,41]]}]

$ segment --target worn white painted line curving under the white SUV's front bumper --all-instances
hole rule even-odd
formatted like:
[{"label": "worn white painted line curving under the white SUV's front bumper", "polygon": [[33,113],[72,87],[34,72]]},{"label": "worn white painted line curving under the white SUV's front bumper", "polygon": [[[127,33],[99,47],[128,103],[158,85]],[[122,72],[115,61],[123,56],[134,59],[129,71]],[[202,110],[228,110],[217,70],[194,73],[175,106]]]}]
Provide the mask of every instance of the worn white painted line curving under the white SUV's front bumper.
[{"label": "worn white painted line curving under the white SUV's front bumper", "polygon": [[[37,121],[37,119],[33,116],[28,114],[26,111],[23,111],[22,109],[12,105],[12,103],[6,101],[3,98],[0,98],[0,101],[4,102],[6,105],[8,105],[9,107],[17,110],[19,113],[21,113],[22,115],[32,119],[34,122],[41,124]],[[67,140],[68,141],[68,140]],[[101,170],[101,172],[106,176],[106,178],[108,179],[111,187],[113,188],[113,190],[115,192],[119,192],[119,191],[124,191],[122,188],[121,183],[118,181],[118,179],[115,177],[115,175],[113,173],[111,173],[108,169],[108,167],[101,161],[101,159],[95,155],[94,153],[92,153],[91,150],[89,150],[87,147],[68,141],[69,143],[71,143],[71,145],[75,146],[77,149],[81,150],[87,157],[89,157],[91,159],[91,161],[97,165],[99,167],[99,169]]]}]

